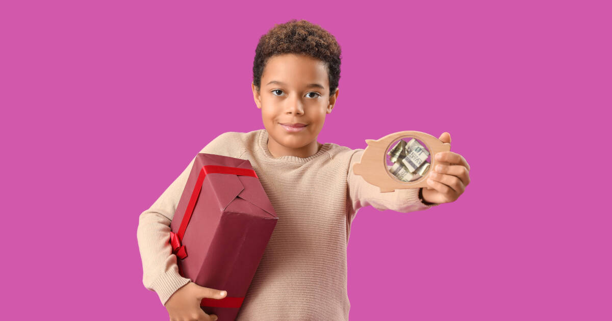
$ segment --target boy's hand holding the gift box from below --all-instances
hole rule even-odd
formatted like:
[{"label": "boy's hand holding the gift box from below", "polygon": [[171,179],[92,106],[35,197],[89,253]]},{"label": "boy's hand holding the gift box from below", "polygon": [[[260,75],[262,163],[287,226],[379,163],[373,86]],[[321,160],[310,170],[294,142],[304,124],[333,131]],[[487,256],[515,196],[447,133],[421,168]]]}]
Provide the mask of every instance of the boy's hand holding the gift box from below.
[{"label": "boy's hand holding the gift box from below", "polygon": [[198,286],[194,282],[188,282],[176,290],[164,306],[168,310],[170,321],[215,321],[217,320],[217,315],[206,314],[200,308],[200,303],[203,298],[222,299],[226,295],[227,291],[209,289]]}]

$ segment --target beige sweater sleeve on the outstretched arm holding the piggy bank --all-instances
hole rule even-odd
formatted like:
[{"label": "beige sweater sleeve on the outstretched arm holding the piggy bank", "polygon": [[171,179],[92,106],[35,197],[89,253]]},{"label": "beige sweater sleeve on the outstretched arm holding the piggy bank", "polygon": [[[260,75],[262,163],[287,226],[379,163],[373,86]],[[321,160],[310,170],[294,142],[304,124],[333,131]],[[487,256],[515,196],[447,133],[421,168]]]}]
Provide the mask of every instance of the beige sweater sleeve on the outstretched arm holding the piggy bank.
[{"label": "beige sweater sleeve on the outstretched arm holding the piggy bank", "polygon": [[420,188],[404,188],[383,193],[378,186],[366,182],[361,175],[354,174],[353,165],[359,163],[363,154],[364,149],[356,149],[349,161],[349,170],[346,179],[348,185],[349,218],[351,221],[359,208],[368,205],[371,205],[379,211],[394,210],[402,213],[426,210],[433,206],[425,205],[419,199]]}]

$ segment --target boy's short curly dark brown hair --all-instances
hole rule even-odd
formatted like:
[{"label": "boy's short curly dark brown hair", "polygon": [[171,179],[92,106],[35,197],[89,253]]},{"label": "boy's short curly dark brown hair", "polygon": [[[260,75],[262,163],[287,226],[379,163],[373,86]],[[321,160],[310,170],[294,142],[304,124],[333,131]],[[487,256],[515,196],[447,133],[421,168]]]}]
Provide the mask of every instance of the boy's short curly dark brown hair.
[{"label": "boy's short curly dark brown hair", "polygon": [[329,78],[329,94],[336,91],[340,81],[341,50],[334,35],[318,24],[292,19],[274,24],[274,28],[259,38],[253,61],[253,84],[258,92],[268,59],[286,53],[303,54],[323,61]]}]

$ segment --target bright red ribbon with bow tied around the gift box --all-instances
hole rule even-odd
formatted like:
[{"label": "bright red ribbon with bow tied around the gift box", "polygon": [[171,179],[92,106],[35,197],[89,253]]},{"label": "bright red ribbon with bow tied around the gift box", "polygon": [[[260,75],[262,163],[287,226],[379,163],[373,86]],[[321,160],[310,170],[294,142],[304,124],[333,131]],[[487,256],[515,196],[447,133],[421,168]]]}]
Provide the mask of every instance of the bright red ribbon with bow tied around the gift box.
[{"label": "bright red ribbon with bow tied around the gift box", "polygon": [[[191,216],[193,214],[193,208],[195,208],[195,203],[198,201],[198,197],[200,197],[200,191],[202,190],[202,184],[204,183],[204,177],[207,174],[231,174],[231,175],[242,175],[242,176],[252,176],[257,177],[255,171],[253,169],[246,168],[237,168],[231,166],[220,166],[220,165],[204,165],[202,169],[200,169],[200,174],[198,174],[198,180],[195,183],[195,188],[193,188],[192,196],[189,199],[189,204],[187,205],[187,210],[185,210],[185,215],[183,215],[181,226],[179,227],[179,232],[174,233],[170,231],[170,245],[172,245],[172,253],[179,257],[180,259],[185,259],[187,257],[187,248],[185,245],[181,244],[181,240],[183,235],[185,235],[185,229],[187,229],[187,224],[189,224],[189,220],[191,220]],[[259,179],[259,177],[257,177]],[[179,273],[182,275],[181,267],[179,265]],[[228,293],[229,294],[229,293]],[[202,306],[215,306],[219,308],[240,308],[242,306],[242,300],[244,297],[236,298],[236,297],[225,297],[222,299],[209,299],[204,298],[201,301]]]}]

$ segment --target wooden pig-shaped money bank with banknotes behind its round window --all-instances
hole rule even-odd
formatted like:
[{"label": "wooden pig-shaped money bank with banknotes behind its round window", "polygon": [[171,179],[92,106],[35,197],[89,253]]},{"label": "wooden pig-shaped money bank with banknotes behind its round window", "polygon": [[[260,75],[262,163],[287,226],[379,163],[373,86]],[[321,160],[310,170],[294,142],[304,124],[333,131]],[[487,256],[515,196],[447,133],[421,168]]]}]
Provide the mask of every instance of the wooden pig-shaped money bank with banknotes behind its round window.
[{"label": "wooden pig-shaped money bank with banknotes behind its round window", "polygon": [[398,188],[426,187],[427,177],[439,152],[449,152],[450,144],[422,131],[398,131],[380,139],[366,139],[368,146],[353,172],[378,186],[381,192]]}]

